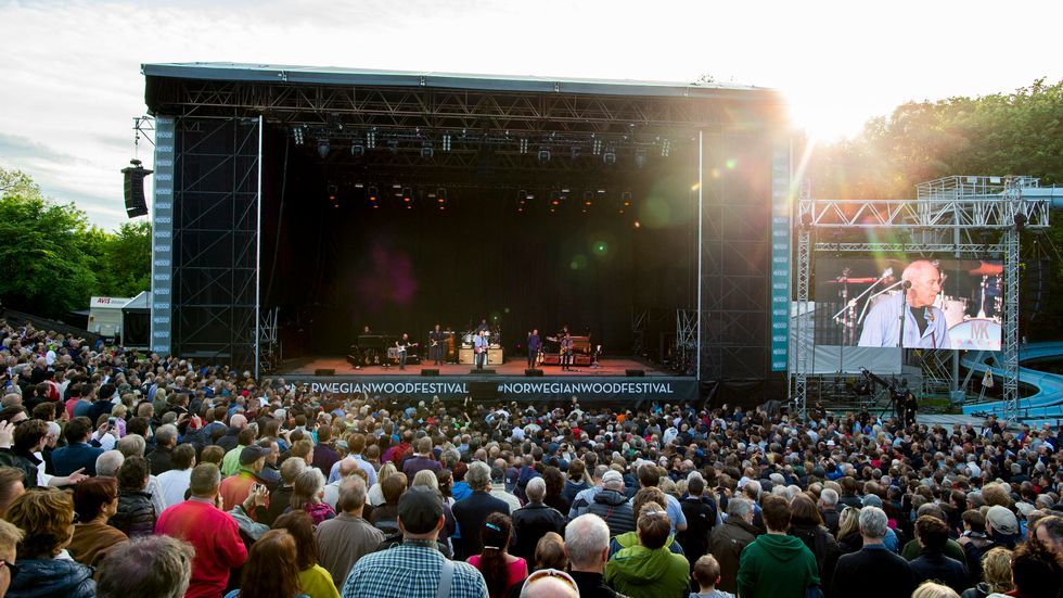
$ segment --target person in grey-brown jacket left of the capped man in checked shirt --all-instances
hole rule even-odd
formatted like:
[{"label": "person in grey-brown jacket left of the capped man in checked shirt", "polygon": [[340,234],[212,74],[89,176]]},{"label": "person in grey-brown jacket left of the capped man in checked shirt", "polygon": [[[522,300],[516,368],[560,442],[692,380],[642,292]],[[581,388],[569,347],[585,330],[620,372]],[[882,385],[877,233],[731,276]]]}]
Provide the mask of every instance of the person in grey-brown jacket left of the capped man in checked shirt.
[{"label": "person in grey-brown jacket left of the capped man in checked shirt", "polygon": [[384,534],[362,518],[366,494],[364,480],[347,478],[340,486],[340,514],[318,524],[318,557],[337,588],[343,587],[358,559],[384,542]]}]

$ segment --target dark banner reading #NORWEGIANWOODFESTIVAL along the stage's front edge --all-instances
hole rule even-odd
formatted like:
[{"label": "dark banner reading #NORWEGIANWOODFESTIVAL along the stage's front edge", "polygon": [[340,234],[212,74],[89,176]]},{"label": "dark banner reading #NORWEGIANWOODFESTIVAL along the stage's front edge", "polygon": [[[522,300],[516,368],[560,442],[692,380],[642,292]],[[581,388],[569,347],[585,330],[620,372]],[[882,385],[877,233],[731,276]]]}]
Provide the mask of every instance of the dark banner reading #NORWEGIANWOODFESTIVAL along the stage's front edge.
[{"label": "dark banner reading #NORWEGIANWOODFESTIVAL along the stage's front edge", "polygon": [[329,393],[354,398],[356,395],[409,397],[411,399],[460,400],[468,396],[498,400],[569,400],[585,403],[637,403],[658,400],[682,403],[696,400],[697,380],[693,378],[627,379],[580,378],[566,380],[454,377],[436,380],[396,379],[396,377],[358,377],[341,379],[319,376],[285,376],[292,384],[306,384],[312,393]]}]

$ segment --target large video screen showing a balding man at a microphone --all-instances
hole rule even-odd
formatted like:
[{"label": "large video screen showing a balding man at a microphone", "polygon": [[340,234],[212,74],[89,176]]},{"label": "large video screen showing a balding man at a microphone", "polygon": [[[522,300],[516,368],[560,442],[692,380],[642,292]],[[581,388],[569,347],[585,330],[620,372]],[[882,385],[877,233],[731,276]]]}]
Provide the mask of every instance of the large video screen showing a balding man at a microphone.
[{"label": "large video screen showing a balding man at a microphone", "polygon": [[1000,262],[818,258],[815,277],[817,345],[1000,349]]}]

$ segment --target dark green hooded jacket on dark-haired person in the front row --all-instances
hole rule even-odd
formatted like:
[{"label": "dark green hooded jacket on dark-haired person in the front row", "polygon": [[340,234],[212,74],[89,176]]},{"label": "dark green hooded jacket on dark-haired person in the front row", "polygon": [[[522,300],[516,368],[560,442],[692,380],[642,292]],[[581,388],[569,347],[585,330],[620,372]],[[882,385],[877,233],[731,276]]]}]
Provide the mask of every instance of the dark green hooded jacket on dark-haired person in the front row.
[{"label": "dark green hooded jacket on dark-haired person in the front row", "polygon": [[742,598],[804,598],[805,589],[819,583],[816,556],[794,536],[765,534],[739,558]]}]

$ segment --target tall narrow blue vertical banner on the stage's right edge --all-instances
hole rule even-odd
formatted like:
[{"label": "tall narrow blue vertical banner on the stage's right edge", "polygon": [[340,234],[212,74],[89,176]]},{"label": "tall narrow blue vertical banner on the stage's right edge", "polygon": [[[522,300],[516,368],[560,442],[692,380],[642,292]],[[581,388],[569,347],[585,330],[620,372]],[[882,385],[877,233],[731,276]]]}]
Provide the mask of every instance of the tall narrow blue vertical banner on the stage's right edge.
[{"label": "tall narrow blue vertical banner on the stage's right edge", "polygon": [[786,371],[790,349],[790,214],[789,140],[771,155],[771,371]]}]

